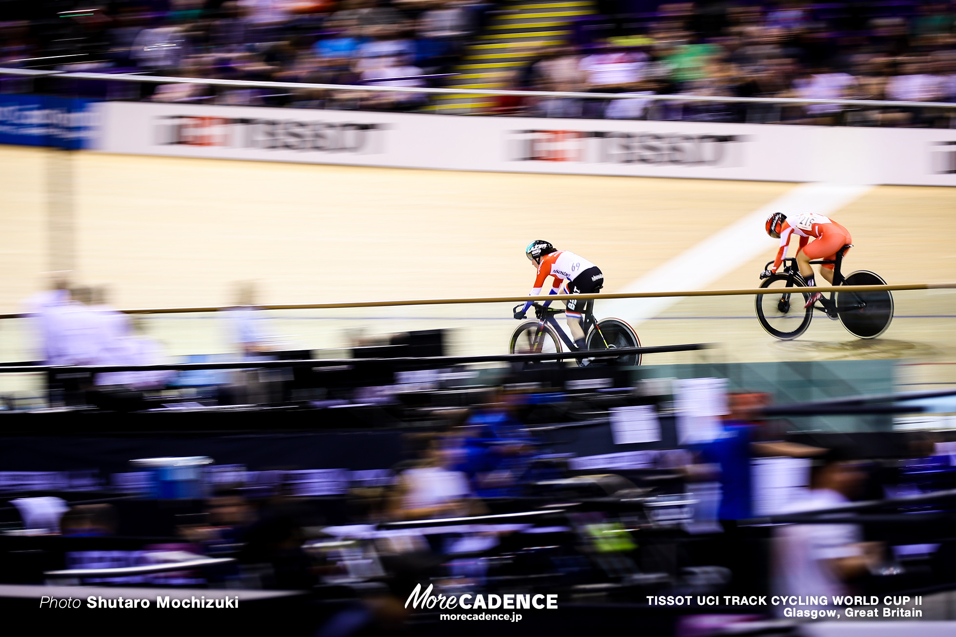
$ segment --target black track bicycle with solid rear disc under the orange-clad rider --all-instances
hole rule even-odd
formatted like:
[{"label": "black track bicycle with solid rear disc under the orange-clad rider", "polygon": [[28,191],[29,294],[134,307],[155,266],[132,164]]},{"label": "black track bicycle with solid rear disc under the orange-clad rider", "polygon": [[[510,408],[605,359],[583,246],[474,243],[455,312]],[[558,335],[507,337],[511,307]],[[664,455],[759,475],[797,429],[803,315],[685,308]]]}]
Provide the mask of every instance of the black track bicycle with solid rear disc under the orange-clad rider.
[{"label": "black track bicycle with solid rear disc under the orange-clad rider", "polygon": [[[886,281],[868,270],[858,270],[851,275],[840,274],[843,253],[852,245],[846,245],[836,252],[836,259],[811,261],[811,264],[834,265],[834,286],[840,285],[886,285]],[[769,270],[770,261],[764,270]],[[770,275],[760,284],[761,288],[779,289],[780,292],[758,295],[756,299],[757,318],[771,336],[781,340],[795,339],[810,327],[814,310],[823,312],[827,318],[839,320],[846,330],[860,339],[875,339],[886,331],[893,320],[893,295],[887,291],[874,290],[864,292],[831,292],[825,294],[811,307],[804,307],[811,293],[799,292],[792,288],[806,287],[807,282],[796,265],[795,258],[784,259],[782,272]],[[795,298],[793,298],[795,297]]]}]

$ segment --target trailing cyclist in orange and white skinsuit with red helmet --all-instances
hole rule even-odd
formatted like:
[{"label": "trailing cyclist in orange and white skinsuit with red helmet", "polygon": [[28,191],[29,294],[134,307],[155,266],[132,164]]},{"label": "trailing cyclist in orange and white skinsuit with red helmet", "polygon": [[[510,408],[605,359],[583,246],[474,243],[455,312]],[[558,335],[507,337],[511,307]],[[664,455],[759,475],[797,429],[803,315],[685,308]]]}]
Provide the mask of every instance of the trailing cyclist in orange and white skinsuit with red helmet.
[{"label": "trailing cyclist in orange and white skinsuit with red helmet", "polygon": [[[780,239],[780,249],[777,251],[776,258],[773,260],[773,268],[764,271],[761,278],[766,278],[777,271],[784,257],[787,256],[790,239],[793,234],[800,237],[800,247],[796,250],[796,263],[800,268],[800,275],[803,275],[807,285],[813,287],[814,269],[810,265],[813,259],[826,259],[832,261],[836,259],[836,252],[843,246],[849,246],[853,243],[853,237],[850,231],[840,226],[830,217],[815,212],[802,212],[792,220],[787,220],[787,215],[782,212],[774,212],[767,219],[767,233],[774,239]],[[814,241],[811,241],[814,239]],[[843,255],[850,252],[847,248]],[[820,267],[820,275],[827,279],[827,282],[834,282],[834,264],[824,263]],[[813,305],[823,294],[816,292],[810,297],[810,300],[804,307]]]}]

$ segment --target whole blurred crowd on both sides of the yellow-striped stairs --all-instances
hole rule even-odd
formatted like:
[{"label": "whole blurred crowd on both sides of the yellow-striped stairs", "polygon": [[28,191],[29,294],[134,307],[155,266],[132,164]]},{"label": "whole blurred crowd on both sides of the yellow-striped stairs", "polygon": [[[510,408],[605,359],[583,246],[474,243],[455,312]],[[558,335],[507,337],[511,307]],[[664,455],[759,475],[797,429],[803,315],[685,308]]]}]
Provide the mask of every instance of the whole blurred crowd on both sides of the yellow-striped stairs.
[{"label": "whole blurred crowd on both sides of the yellow-striped stairs", "polygon": [[[70,4],[70,3],[67,3]],[[131,0],[23,10],[0,23],[0,65],[332,84],[444,86],[496,12],[489,0]],[[536,5],[535,5],[536,6]],[[56,9],[61,9],[56,5]],[[601,0],[571,34],[478,83],[595,93],[806,99],[956,99],[956,3]],[[542,30],[546,27],[542,26]],[[24,85],[6,78],[5,90]],[[17,83],[19,82],[19,84]],[[114,82],[109,99],[419,110],[416,93]],[[76,87],[80,90],[79,87]],[[89,87],[87,89],[90,90]],[[95,90],[95,89],[94,89]],[[950,125],[950,112],[649,99],[520,99],[511,115],[690,121]]]}]

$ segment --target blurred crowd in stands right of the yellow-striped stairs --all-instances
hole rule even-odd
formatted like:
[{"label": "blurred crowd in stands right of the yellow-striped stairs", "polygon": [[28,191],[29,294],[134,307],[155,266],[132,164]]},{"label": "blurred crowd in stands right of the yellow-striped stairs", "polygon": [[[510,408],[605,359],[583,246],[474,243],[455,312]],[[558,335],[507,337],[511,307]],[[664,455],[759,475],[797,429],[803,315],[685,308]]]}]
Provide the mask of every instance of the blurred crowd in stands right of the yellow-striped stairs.
[{"label": "blurred crowd in stands right of the yellow-striped stairs", "polygon": [[[608,2],[619,8],[626,3]],[[607,11],[607,10],[605,10]],[[514,87],[742,98],[956,100],[956,5],[675,3],[578,23]],[[503,102],[500,110],[520,107]],[[540,115],[690,121],[949,126],[950,112],[646,99],[549,99]]]}]

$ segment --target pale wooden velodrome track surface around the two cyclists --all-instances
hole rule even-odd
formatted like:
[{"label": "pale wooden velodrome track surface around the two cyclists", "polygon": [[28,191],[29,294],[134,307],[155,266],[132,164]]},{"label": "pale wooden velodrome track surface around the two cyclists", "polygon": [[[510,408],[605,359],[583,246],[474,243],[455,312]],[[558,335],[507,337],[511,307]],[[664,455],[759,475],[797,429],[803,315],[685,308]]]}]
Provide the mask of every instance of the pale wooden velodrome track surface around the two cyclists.
[{"label": "pale wooden velodrome track surface around the two cyclists", "polygon": [[[0,312],[19,311],[49,269],[51,152],[0,146]],[[227,304],[242,280],[256,281],[265,303],[521,295],[533,277],[522,251],[536,238],[597,262],[613,292],[795,186],[86,152],[69,161],[76,279],[107,284],[118,307]],[[844,272],[869,269],[890,283],[956,280],[954,204],[953,188],[876,187],[833,212],[856,246]],[[710,287],[756,287],[774,252],[768,239],[765,254]],[[754,318],[752,297],[685,298],[638,332],[645,345],[721,342],[706,356],[731,362],[956,362],[952,292],[895,293],[897,318],[878,340],[856,340],[818,315],[801,339],[775,341]],[[314,348],[344,346],[357,330],[452,327],[455,352],[498,353],[515,325],[511,304],[281,316],[271,326],[279,340]],[[2,360],[29,357],[20,322],[0,324]],[[221,321],[209,315],[154,318],[147,330],[171,354],[229,351]],[[956,371],[944,371],[951,367],[934,366],[932,375],[956,381]]]}]

